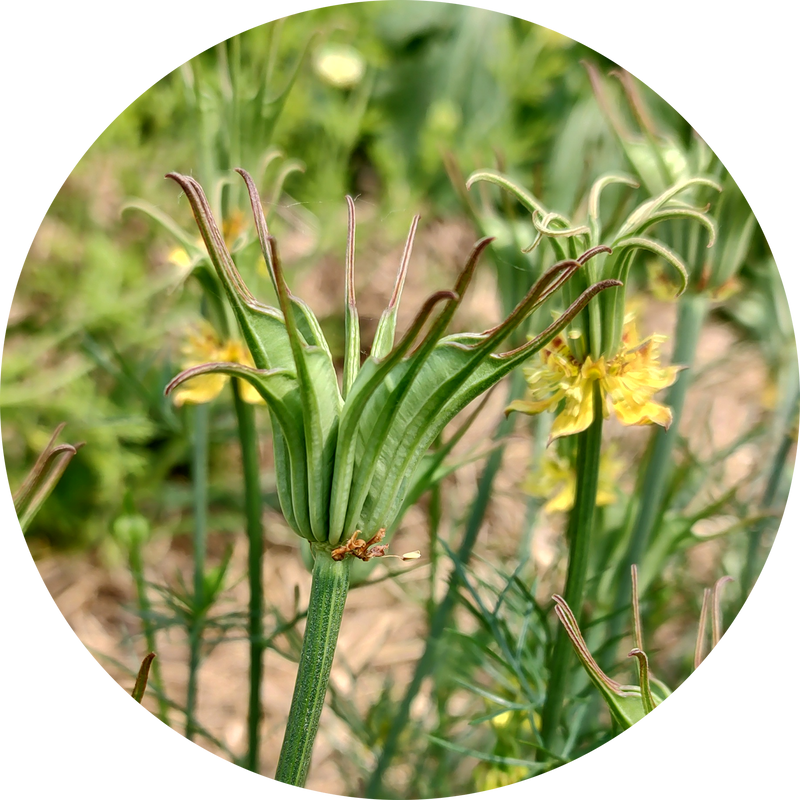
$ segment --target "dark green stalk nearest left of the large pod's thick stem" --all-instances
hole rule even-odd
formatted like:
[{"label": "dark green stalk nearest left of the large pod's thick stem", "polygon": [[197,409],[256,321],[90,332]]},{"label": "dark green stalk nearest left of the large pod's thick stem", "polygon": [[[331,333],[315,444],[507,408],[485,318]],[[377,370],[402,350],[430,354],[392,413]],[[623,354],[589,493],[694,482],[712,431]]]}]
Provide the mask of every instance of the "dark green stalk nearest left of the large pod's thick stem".
[{"label": "dark green stalk nearest left of the large pod's thick stem", "polygon": [[250,642],[250,696],[247,703],[247,758],[244,769],[258,776],[259,727],[261,723],[261,681],[264,671],[264,622],[261,562],[264,553],[261,527],[261,483],[259,480],[258,435],[255,409],[242,399],[239,381],[231,381],[233,404],[239,427],[244,472],[244,507],[247,519],[247,581],[250,606],[247,639]]}]

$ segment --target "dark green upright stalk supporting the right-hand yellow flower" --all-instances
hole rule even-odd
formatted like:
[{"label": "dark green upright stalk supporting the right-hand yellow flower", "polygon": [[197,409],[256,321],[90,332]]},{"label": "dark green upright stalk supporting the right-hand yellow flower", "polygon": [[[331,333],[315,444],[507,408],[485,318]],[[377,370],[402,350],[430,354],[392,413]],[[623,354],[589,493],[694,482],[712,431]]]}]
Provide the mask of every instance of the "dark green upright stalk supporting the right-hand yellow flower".
[{"label": "dark green upright stalk supporting the right-hand yellow flower", "polygon": [[[567,605],[580,615],[586,576],[589,571],[589,556],[592,546],[592,528],[595,521],[597,501],[597,479],[600,471],[600,446],[603,438],[603,406],[600,387],[594,387],[594,420],[578,434],[576,464],[575,504],[569,518],[567,539],[569,542],[569,565],[564,597]],[[561,721],[564,692],[571,670],[572,644],[563,626],[558,627],[556,642],[550,658],[547,697],[542,710],[542,739],[549,750],[553,750],[554,739]]]}]

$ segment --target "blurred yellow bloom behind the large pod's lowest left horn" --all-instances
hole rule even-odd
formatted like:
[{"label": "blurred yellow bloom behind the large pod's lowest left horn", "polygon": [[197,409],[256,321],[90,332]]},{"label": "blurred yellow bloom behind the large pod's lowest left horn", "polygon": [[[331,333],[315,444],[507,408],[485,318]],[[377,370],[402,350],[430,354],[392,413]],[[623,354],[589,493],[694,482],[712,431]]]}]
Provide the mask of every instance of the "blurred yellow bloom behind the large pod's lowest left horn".
[{"label": "blurred yellow bloom behind the large pod's lowest left horn", "polygon": [[[228,362],[234,364],[246,364],[253,367],[253,359],[250,352],[241,342],[233,339],[221,342],[211,325],[204,321],[192,333],[186,344],[181,349],[183,353],[183,365],[185,369],[205,364],[209,361]],[[210,403],[224,388],[230,380],[227,375],[218,372],[198,375],[191,378],[173,394],[173,401],[176,406],[184,403]],[[239,381],[239,391],[242,400],[247,403],[263,403],[261,395],[247,381]]]}]

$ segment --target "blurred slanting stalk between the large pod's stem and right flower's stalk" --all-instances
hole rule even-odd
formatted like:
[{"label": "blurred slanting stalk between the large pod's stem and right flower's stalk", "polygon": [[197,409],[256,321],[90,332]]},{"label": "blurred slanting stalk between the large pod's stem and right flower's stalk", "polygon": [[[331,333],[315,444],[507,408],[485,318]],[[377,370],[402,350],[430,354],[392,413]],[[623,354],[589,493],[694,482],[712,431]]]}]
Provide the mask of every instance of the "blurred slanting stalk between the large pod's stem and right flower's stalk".
[{"label": "blurred slanting stalk between the large pod's stem and right flower's stalk", "polygon": [[[521,397],[525,391],[525,379],[520,370],[516,370],[511,376],[511,389],[509,390],[509,402]],[[494,439],[495,441],[502,440],[512,431],[514,426],[513,417],[506,417],[497,427]],[[481,479],[478,483],[478,492],[472,502],[472,508],[469,512],[467,525],[464,532],[464,539],[461,542],[461,547],[458,550],[458,560],[462,565],[469,563],[472,555],[472,550],[475,547],[475,542],[478,539],[478,533],[483,523],[483,518],[486,515],[486,509],[489,506],[491,499],[492,486],[497,473],[500,471],[500,466],[503,461],[503,453],[505,447],[500,446],[492,450],[489,458],[486,461]],[[408,724],[411,704],[414,698],[419,694],[422,687],[423,680],[433,671],[436,665],[436,659],[439,652],[442,637],[444,636],[445,629],[449,623],[450,615],[458,599],[458,591],[460,588],[460,580],[458,578],[458,570],[453,568],[450,573],[450,580],[447,588],[447,593],[436,609],[428,632],[428,638],[425,642],[425,650],[422,653],[420,660],[417,662],[417,667],[414,671],[414,676],[411,683],[406,689],[403,701],[397,709],[397,713],[392,720],[392,727],[386,736],[386,742],[383,745],[383,750],[378,757],[378,762],[375,769],[370,776],[369,783],[367,784],[364,793],[365,800],[376,800],[380,794],[383,776],[389,765],[392,762],[396,752],[397,746],[400,742],[400,736]]]}]

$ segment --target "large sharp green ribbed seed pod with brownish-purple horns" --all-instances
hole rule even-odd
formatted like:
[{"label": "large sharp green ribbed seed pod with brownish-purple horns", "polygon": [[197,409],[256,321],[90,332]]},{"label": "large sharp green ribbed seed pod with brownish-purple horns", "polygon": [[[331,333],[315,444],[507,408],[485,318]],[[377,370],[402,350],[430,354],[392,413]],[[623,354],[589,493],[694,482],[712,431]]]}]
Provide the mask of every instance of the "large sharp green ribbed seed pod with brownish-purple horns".
[{"label": "large sharp green ribbed seed pod with brownish-purple horns", "polygon": [[[497,353],[503,340],[587,260],[610,250],[592,248],[577,260],[566,259],[551,267],[497,327],[483,333],[446,335],[480,255],[491,241],[481,239],[453,290],[431,295],[409,330],[395,342],[415,219],[372,351],[360,364],[354,292],[355,207],[348,198],[345,363],[340,386],[316,317],[286,284],[255,185],[244,170],[237,171],[247,185],[280,309],[259,303],[245,286],[197,181],[170,173],[167,177],[186,192],[255,367],[204,364],[182,372],[165,391],[211,372],[252,384],[272,417],[278,496],[288,524],[310,542],[331,549],[334,557],[338,553],[341,558],[355,555],[368,560],[383,555],[386,546],[376,543],[402,512],[420,461],[447,423],[547,344],[592,297],[620,282],[606,280],[590,286],[561,317],[522,347]],[[429,320],[427,333],[418,341]]]}]

